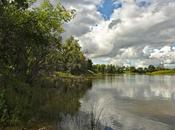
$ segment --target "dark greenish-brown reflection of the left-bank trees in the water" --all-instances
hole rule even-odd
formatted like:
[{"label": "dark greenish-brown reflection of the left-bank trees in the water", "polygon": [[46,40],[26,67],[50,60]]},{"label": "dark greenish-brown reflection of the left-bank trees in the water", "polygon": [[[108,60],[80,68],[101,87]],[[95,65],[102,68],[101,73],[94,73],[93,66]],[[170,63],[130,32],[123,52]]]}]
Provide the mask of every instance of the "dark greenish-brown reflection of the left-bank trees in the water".
[{"label": "dark greenish-brown reflection of the left-bank trees in the water", "polygon": [[[5,88],[5,127],[10,127],[10,130],[31,127],[36,130],[43,126],[51,126],[57,130],[57,123],[62,114],[77,113],[81,105],[79,99],[91,88],[92,82],[66,79],[45,81],[37,85]],[[1,127],[0,124],[0,129]]]}]

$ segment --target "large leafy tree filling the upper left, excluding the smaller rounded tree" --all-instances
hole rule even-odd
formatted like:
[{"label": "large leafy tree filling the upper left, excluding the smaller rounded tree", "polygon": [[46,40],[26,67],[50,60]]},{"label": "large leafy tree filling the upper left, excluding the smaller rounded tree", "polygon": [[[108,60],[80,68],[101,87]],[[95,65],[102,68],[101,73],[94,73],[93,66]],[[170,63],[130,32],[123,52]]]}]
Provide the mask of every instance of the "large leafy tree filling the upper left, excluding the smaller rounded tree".
[{"label": "large leafy tree filling the upper left, excluding the smaller rounded tree", "polygon": [[49,2],[32,10],[18,9],[15,3],[1,8],[0,74],[31,83],[39,74],[54,68],[52,57],[61,46],[62,25],[73,12]]}]

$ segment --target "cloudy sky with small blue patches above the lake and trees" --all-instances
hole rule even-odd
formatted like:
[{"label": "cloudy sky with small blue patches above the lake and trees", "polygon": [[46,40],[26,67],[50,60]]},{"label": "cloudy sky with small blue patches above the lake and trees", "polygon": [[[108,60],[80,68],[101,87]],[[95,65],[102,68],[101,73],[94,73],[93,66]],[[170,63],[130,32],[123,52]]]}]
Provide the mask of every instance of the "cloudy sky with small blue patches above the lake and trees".
[{"label": "cloudy sky with small blue patches above the lake and trees", "polygon": [[62,0],[75,36],[94,63],[175,64],[175,0]]}]

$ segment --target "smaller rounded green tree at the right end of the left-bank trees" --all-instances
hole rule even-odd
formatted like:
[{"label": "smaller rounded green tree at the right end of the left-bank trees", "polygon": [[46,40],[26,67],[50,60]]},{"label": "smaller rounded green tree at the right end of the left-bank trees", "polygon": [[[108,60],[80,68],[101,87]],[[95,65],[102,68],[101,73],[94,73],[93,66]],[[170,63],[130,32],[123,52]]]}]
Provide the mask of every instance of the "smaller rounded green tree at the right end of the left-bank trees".
[{"label": "smaller rounded green tree at the right end of the left-bank trees", "polygon": [[61,63],[58,64],[61,64],[61,68],[63,68],[64,71],[78,74],[87,69],[86,58],[81,51],[78,40],[74,39],[74,37],[67,39],[61,46],[60,56],[58,61],[61,61]]}]

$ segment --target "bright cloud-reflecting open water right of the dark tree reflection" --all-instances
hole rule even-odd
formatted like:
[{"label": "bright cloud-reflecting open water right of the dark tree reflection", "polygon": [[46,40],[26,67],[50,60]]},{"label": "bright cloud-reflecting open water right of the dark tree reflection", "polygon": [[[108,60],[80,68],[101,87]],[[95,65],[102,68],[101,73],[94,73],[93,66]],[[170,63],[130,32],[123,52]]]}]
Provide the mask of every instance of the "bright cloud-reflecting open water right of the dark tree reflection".
[{"label": "bright cloud-reflecting open water right of the dark tree reflection", "polygon": [[[175,129],[175,76],[123,75],[93,81],[81,111],[103,108],[101,123],[121,130]],[[98,111],[98,110],[97,110]]]}]

